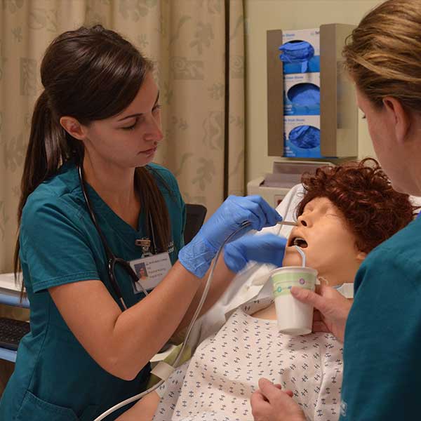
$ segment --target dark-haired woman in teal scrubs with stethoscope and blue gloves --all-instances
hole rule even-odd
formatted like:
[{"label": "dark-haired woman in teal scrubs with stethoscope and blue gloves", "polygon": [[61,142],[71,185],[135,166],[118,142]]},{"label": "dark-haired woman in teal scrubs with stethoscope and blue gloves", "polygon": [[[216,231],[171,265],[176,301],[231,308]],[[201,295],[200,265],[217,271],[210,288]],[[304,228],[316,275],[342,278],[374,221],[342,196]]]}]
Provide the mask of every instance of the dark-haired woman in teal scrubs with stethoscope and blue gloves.
[{"label": "dark-haired woman in teal scrubs with stethoscope and blue gloves", "polygon": [[[152,65],[119,34],[100,25],[61,34],[44,55],[41,81],[15,260],[31,332],[0,419],[91,421],[145,389],[149,359],[187,326],[227,236],[245,220],[261,229],[281,217],[258,196],[229,197],[184,246],[178,184],[151,162],[162,139]],[[234,259],[281,265],[285,241],[257,237]],[[265,253],[273,246],[279,253]],[[152,284],[136,288],[132,267],[142,264]],[[233,277],[218,262],[205,309]]]}]

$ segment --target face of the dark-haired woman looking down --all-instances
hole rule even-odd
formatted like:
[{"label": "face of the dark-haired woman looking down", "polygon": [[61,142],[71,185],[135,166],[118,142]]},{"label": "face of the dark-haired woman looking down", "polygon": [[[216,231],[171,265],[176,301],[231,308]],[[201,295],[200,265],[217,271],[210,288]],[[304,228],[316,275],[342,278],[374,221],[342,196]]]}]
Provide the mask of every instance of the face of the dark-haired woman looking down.
[{"label": "face of the dark-haired woman looking down", "polygon": [[147,74],[138,95],[120,114],[85,127],[86,152],[94,161],[134,168],[152,161],[162,140],[159,91]]}]

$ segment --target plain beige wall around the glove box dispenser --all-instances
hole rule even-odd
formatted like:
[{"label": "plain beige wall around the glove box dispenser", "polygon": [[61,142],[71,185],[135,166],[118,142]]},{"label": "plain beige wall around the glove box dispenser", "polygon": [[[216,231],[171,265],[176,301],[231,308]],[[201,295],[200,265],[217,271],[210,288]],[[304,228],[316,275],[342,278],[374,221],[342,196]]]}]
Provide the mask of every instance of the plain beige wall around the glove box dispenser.
[{"label": "plain beige wall around the glove box dispenser", "polygon": [[[246,180],[272,171],[267,156],[267,29],[305,29],[326,23],[356,25],[379,0],[245,0]],[[374,156],[366,122],[359,119],[359,158]]]}]

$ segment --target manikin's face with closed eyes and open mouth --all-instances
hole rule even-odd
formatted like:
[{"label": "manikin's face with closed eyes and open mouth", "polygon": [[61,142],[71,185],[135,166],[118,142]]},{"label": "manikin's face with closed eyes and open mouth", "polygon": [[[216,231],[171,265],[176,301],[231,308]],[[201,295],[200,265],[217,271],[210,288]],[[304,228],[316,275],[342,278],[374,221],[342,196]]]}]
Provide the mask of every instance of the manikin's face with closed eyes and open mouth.
[{"label": "manikin's face with closed eyes and open mouth", "polygon": [[366,254],[356,248],[356,237],[338,208],[326,197],[309,201],[288,238],[283,266],[301,266],[296,243],[306,265],[316,269],[330,286],[353,282]]}]

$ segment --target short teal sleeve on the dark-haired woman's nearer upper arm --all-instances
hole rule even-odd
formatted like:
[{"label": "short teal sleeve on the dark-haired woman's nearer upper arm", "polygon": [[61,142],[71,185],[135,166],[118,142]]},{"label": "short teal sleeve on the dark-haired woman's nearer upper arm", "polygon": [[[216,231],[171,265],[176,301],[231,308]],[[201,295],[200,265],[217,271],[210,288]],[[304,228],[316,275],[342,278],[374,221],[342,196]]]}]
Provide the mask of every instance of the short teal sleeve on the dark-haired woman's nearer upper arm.
[{"label": "short teal sleeve on the dark-haired woman's nearer upper arm", "polygon": [[100,279],[88,235],[78,221],[60,198],[25,205],[20,256],[29,270],[27,288],[38,292],[64,283]]}]

